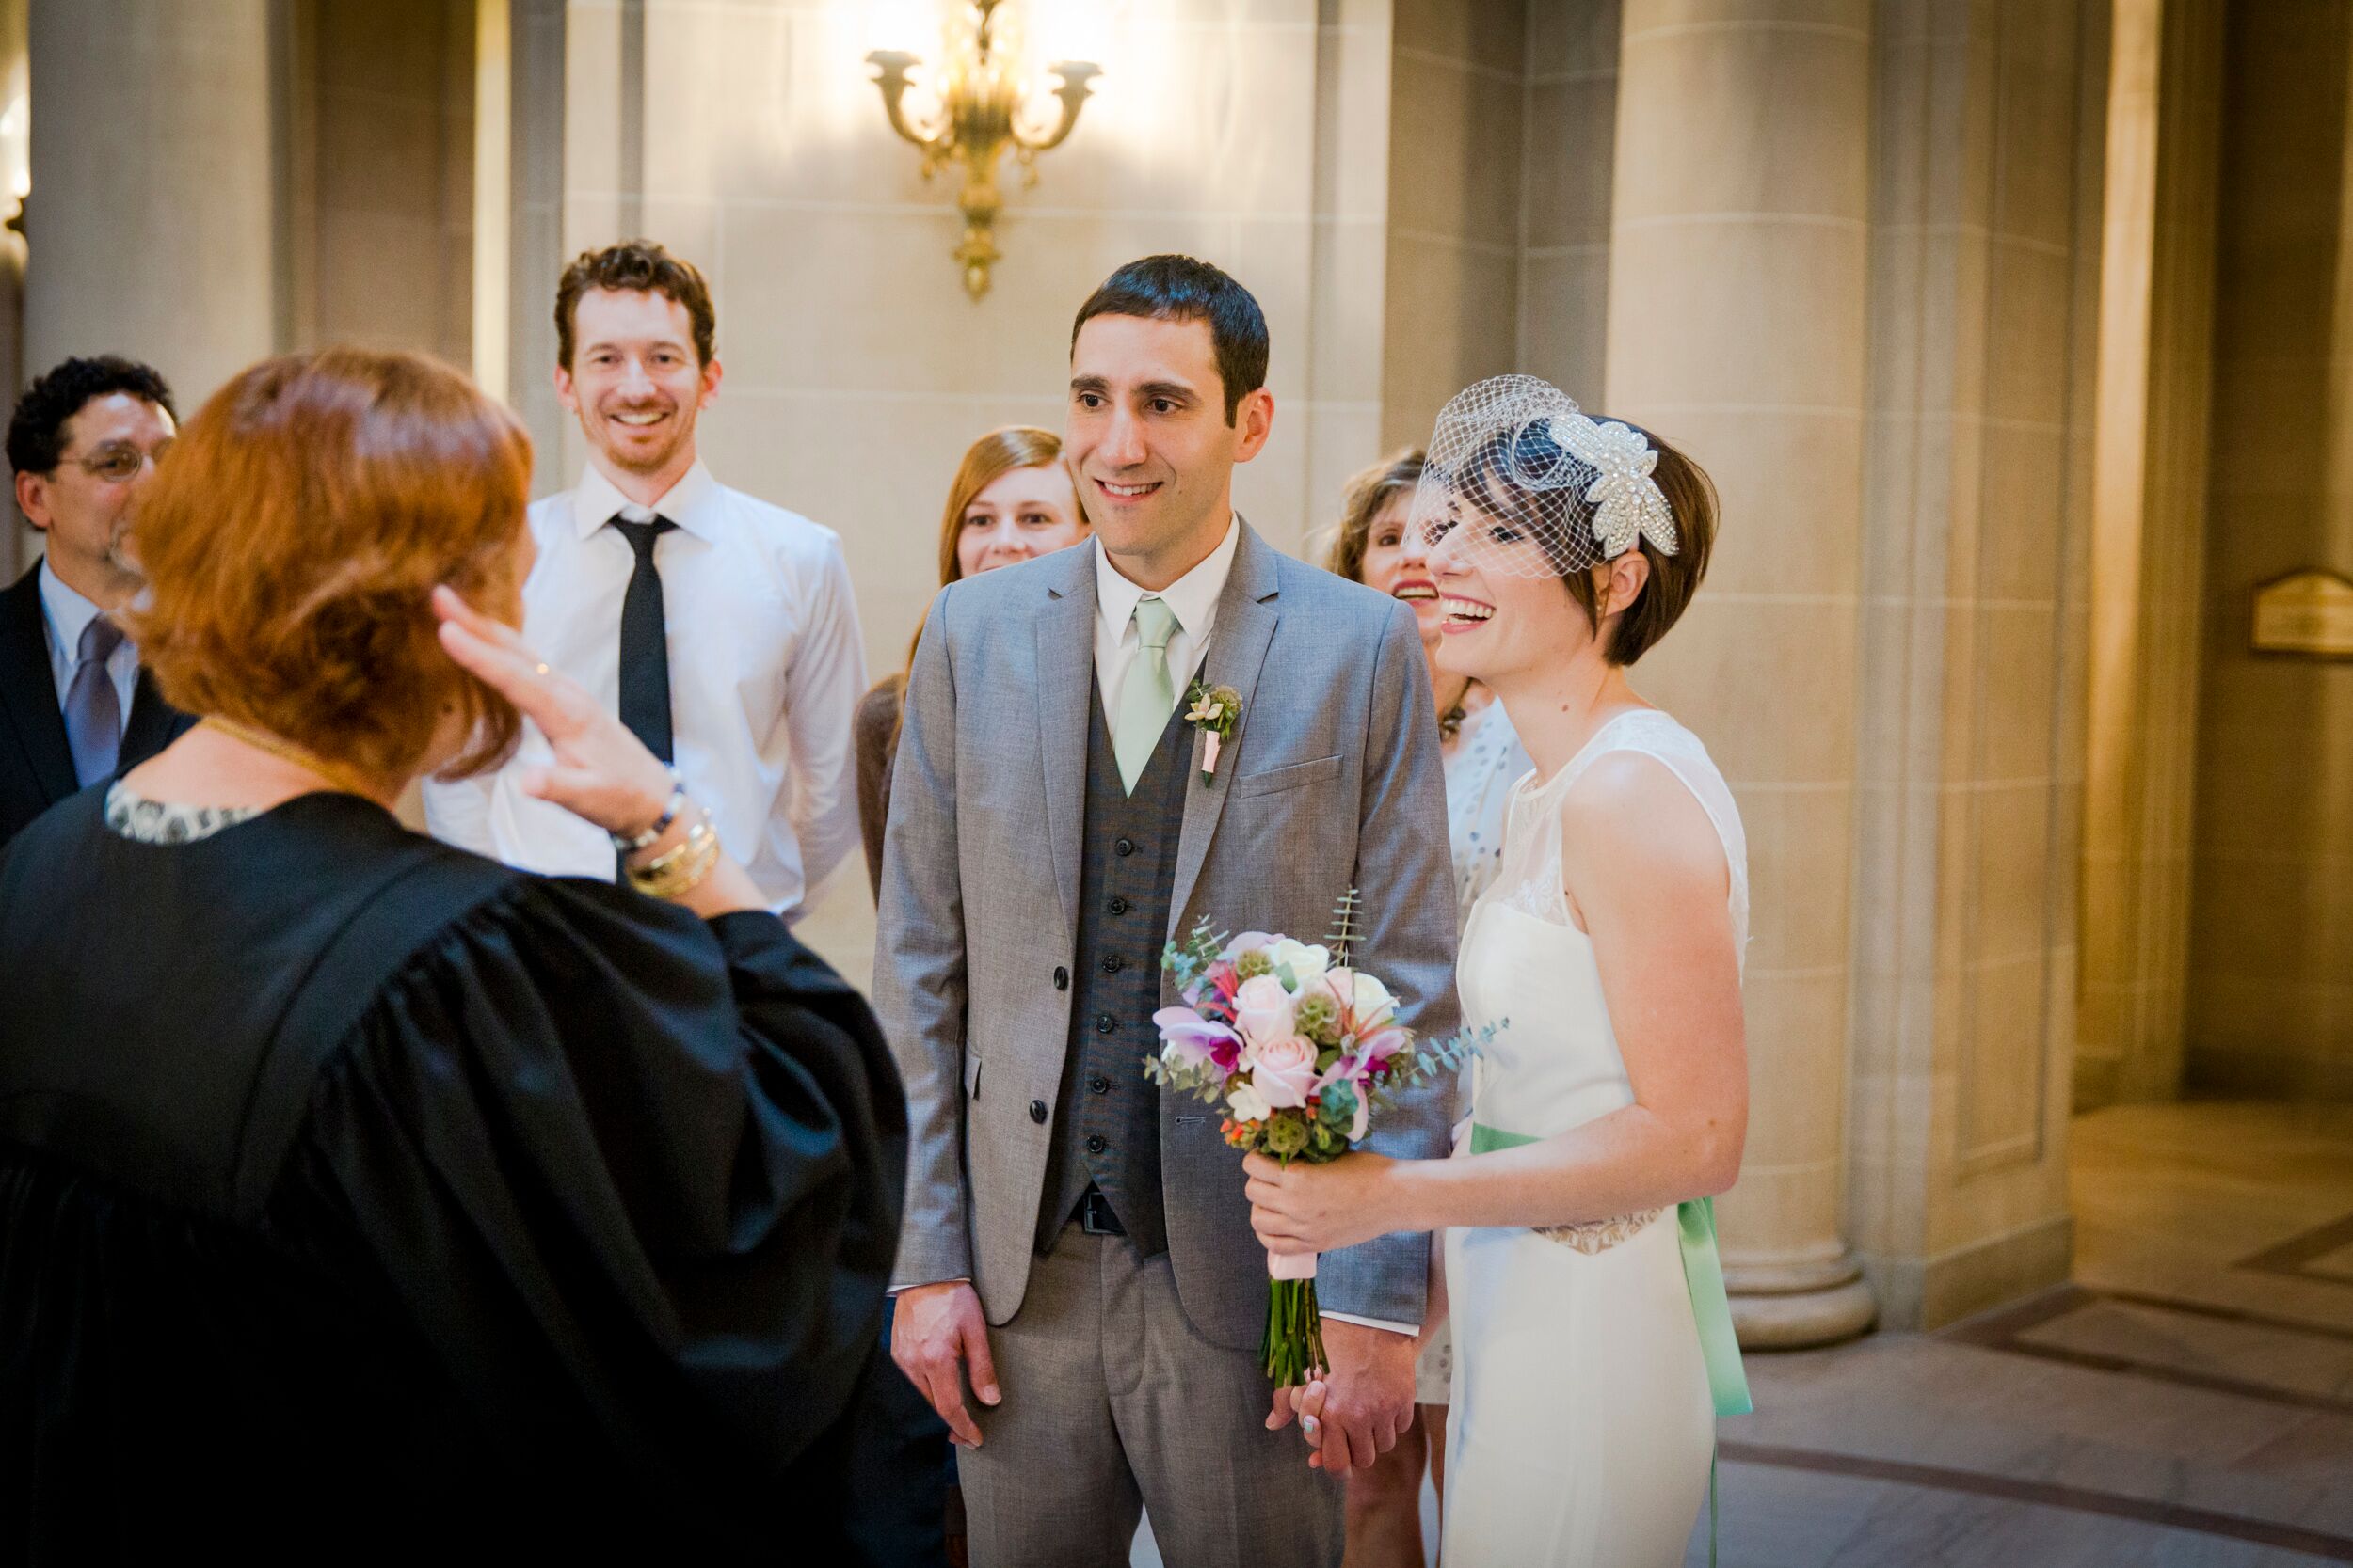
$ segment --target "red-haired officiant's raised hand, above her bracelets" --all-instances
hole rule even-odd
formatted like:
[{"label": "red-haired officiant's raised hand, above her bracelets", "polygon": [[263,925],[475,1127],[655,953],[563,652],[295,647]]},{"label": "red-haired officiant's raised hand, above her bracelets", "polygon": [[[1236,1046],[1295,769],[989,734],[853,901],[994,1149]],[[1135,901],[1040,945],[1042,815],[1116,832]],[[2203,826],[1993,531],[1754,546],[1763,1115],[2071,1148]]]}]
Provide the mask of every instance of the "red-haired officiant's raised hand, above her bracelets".
[{"label": "red-haired officiant's raised hand, above her bracelets", "polygon": [[449,658],[520,708],[555,752],[555,766],[527,769],[525,795],[555,802],[605,832],[638,835],[671,802],[671,771],[576,682],[551,670],[522,632],[473,609],[449,588],[433,590]]}]

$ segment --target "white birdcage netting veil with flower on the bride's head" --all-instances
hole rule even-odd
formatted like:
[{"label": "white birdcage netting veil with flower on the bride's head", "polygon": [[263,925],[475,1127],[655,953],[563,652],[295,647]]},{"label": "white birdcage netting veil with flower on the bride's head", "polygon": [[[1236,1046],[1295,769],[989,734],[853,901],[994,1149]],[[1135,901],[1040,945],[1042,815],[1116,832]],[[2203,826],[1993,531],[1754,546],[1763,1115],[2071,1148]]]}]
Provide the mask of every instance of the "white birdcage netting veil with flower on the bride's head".
[{"label": "white birdcage netting veil with flower on the bride's head", "polygon": [[1499,576],[1567,576],[1645,538],[1673,555],[1657,465],[1649,437],[1551,381],[1494,376],[1440,409],[1407,531]]}]

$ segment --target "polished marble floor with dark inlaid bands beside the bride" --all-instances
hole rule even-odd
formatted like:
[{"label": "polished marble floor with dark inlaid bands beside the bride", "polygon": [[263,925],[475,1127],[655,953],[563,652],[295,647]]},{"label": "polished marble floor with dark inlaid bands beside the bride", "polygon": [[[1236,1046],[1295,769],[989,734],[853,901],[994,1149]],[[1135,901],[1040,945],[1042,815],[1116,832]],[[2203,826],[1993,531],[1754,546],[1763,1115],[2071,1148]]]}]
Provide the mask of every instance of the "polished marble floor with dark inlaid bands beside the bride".
[{"label": "polished marble floor with dark inlaid bands beside the bride", "polygon": [[2094,1112],[2073,1182],[2073,1284],[1748,1359],[1725,1568],[2353,1563],[2353,1105]]}]

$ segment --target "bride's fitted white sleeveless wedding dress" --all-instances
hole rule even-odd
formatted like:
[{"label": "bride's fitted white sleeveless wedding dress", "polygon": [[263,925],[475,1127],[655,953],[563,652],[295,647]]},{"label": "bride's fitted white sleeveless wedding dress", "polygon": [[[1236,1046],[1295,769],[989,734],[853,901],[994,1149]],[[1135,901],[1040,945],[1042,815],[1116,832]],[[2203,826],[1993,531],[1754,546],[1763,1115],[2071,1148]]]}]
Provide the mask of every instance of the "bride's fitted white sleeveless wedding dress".
[{"label": "bride's fitted white sleeveless wedding dress", "polygon": [[[1457,1157],[1478,1138],[1551,1138],[1633,1105],[1593,943],[1560,886],[1560,804],[1621,750],[1659,759],[1706,806],[1746,952],[1748,849],[1732,790],[1692,731],[1664,712],[1624,712],[1551,780],[1520,780],[1504,865],[1471,912],[1457,969],[1464,1023],[1508,1020],[1473,1063],[1475,1126]],[[1447,1568],[1682,1563],[1708,1497],[1715,1403],[1675,1211],[1452,1229],[1447,1298]]]}]

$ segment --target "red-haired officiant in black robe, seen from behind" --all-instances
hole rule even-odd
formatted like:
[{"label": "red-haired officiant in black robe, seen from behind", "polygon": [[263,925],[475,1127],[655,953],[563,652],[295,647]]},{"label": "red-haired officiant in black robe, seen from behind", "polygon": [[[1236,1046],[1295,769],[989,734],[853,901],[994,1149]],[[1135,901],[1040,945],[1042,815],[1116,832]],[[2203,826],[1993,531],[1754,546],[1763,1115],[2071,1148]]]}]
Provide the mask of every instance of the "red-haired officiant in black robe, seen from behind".
[{"label": "red-haired officiant in black robe, seen from behind", "polygon": [[[899,1084],[508,630],[527,475],[456,371],[327,350],[155,480],[136,635],[207,717],[0,853],[0,1561],[875,1556]],[[388,811],[518,708],[635,886]]]}]

